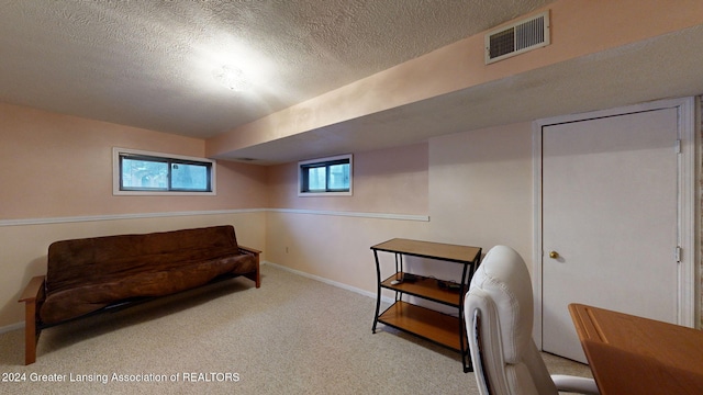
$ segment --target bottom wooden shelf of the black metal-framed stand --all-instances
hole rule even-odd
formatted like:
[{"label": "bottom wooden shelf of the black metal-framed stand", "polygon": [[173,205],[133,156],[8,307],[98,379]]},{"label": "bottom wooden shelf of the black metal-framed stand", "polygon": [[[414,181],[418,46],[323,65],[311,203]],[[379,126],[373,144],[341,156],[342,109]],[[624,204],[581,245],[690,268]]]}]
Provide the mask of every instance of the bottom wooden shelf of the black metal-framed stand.
[{"label": "bottom wooden shelf of the black metal-framed stand", "polygon": [[462,351],[457,317],[398,301],[378,317],[378,321]]}]

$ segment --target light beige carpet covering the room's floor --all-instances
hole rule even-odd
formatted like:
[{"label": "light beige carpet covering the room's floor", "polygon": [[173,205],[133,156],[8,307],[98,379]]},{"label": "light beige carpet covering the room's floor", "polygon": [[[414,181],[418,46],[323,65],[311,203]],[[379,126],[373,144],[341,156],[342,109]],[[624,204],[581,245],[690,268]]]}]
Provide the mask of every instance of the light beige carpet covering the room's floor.
[{"label": "light beige carpet covering the room's floor", "polygon": [[261,270],[258,290],[235,279],[46,329],[29,366],[23,331],[0,335],[0,379],[19,380],[0,394],[478,394],[457,352],[371,334],[373,298]]}]

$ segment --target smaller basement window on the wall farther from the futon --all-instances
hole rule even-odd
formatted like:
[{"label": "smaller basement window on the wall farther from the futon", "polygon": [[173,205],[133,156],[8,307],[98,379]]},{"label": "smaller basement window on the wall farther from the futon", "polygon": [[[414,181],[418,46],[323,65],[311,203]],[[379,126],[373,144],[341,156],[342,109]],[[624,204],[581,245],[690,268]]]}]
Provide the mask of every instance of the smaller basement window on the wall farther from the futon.
[{"label": "smaller basement window on the wall farther from the futon", "polygon": [[298,195],[350,196],[352,163],[352,155],[298,162]]}]

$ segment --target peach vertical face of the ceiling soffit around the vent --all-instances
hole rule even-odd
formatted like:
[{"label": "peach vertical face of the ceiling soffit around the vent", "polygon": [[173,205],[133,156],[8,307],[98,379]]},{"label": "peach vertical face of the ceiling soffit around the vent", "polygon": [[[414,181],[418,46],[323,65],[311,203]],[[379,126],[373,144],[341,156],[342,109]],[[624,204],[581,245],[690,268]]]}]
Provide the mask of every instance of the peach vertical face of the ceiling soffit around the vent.
[{"label": "peach vertical face of the ceiling soffit around the vent", "polygon": [[487,66],[484,34],[473,35],[210,138],[205,143],[207,156],[236,156],[247,147],[510,79],[703,23],[703,2],[684,0],[666,3],[560,0],[518,19],[547,9],[551,14],[551,45],[547,47]]}]

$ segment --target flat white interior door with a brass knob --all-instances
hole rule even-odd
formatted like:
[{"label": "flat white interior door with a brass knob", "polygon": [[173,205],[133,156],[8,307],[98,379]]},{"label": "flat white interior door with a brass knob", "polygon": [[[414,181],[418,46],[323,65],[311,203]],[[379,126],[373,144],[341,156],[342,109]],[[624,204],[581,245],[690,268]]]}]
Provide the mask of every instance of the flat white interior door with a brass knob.
[{"label": "flat white interior door with a brass knob", "polygon": [[677,323],[677,139],[676,108],[542,127],[545,351],[585,361],[569,303]]}]

